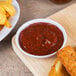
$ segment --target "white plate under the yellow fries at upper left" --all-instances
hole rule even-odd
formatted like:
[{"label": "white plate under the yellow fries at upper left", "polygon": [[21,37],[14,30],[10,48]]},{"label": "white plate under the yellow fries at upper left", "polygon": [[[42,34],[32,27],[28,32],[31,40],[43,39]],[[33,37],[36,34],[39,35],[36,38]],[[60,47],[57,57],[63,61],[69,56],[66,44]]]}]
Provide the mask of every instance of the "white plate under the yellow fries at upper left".
[{"label": "white plate under the yellow fries at upper left", "polygon": [[20,7],[19,7],[18,2],[16,0],[13,0],[12,4],[16,9],[15,16],[9,18],[9,21],[10,21],[12,27],[10,29],[7,27],[4,27],[0,31],[0,41],[2,41],[13,30],[13,28],[15,27],[16,23],[18,22],[18,19],[20,16]]}]

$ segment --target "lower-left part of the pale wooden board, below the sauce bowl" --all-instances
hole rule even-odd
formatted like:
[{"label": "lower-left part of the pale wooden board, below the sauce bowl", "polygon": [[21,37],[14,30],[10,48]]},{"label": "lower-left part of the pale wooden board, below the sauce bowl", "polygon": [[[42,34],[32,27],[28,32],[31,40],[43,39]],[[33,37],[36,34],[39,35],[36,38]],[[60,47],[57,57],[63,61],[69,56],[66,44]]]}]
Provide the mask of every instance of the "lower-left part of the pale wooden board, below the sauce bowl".
[{"label": "lower-left part of the pale wooden board, below the sauce bowl", "polygon": [[48,76],[50,68],[56,59],[56,55],[47,59],[37,59],[26,56],[17,48],[15,43],[15,36],[12,39],[12,47],[17,56],[29,68],[34,76]]}]

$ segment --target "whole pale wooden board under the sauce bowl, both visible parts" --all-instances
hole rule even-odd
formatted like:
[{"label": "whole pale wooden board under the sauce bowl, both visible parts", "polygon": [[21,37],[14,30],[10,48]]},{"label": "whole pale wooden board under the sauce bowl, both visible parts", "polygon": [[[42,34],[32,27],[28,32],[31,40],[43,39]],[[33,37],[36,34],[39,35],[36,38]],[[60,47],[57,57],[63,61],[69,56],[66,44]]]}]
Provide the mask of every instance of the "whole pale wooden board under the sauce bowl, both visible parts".
[{"label": "whole pale wooden board under the sauce bowl, both visible parts", "polygon": [[[68,37],[67,45],[74,47],[76,45],[76,4],[67,7],[49,18],[59,22],[65,28]],[[15,36],[12,39],[12,46],[15,53],[34,74],[34,76],[48,76],[50,68],[56,59],[56,55],[47,59],[37,59],[26,56],[17,48]]]}]

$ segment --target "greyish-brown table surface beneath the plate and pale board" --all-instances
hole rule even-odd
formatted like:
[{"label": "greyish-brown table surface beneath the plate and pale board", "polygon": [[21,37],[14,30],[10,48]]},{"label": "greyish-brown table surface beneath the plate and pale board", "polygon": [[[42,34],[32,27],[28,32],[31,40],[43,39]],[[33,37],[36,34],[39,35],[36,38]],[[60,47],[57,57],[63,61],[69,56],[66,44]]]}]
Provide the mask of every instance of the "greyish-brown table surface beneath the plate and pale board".
[{"label": "greyish-brown table surface beneath the plate and pale board", "polygon": [[34,19],[47,17],[72,3],[56,5],[49,0],[18,0],[21,8],[20,20],[16,28],[2,42],[0,42],[0,76],[33,76],[27,67],[14,53],[11,46],[11,38],[24,22]]}]

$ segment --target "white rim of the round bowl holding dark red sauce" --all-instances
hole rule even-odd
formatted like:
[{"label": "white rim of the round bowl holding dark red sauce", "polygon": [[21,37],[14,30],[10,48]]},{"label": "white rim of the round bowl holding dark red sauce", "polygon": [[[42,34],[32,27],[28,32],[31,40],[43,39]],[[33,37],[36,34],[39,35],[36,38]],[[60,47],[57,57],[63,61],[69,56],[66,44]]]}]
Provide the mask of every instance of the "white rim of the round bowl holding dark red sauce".
[{"label": "white rim of the round bowl holding dark red sauce", "polygon": [[[26,23],[24,23],[17,31],[16,33],[16,44],[17,44],[17,47],[19,48],[19,50],[24,53],[25,55],[28,55],[28,56],[31,56],[31,57],[35,57],[35,58],[47,58],[47,57],[51,57],[53,55],[56,54],[56,52],[52,53],[52,54],[49,54],[49,55],[43,55],[43,56],[37,56],[37,55],[32,55],[30,53],[27,53],[25,52],[21,47],[20,47],[20,44],[19,44],[19,36],[20,36],[20,33],[22,30],[24,30],[26,27],[30,26],[30,24],[33,24],[33,23],[37,23],[37,22],[47,22],[47,23],[51,23],[51,24],[54,24],[55,26],[57,26],[63,33],[63,36],[64,36],[64,42],[63,42],[63,45],[61,46],[61,48],[63,48],[66,44],[66,41],[67,41],[67,34],[66,34],[66,31],[65,29],[57,22],[51,20],[51,19],[34,19],[34,20],[31,20],[31,21],[28,21]],[[60,48],[60,49],[61,49]]]}]

